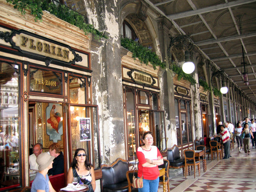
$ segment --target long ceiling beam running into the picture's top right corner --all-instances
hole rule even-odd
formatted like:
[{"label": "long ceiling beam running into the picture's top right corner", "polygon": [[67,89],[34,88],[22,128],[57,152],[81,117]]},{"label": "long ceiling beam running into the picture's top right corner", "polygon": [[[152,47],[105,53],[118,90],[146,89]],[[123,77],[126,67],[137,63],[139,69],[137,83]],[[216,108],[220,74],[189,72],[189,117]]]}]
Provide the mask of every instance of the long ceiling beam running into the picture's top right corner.
[{"label": "long ceiling beam running into the picture's top right corner", "polygon": [[204,14],[207,12],[218,11],[221,9],[226,9],[226,8],[230,8],[230,7],[234,7],[234,6],[240,6],[240,5],[244,5],[247,3],[253,3],[255,1],[256,0],[236,0],[236,1],[231,1],[228,3],[223,3],[223,4],[219,4],[219,5],[215,5],[215,6],[205,7],[202,9],[197,9],[197,10],[192,10],[192,11],[187,11],[187,12],[182,12],[182,13],[176,13],[173,15],[167,15],[167,17],[171,20],[175,20],[175,19],[190,17],[190,16],[194,16],[194,15],[198,15],[198,14]]}]

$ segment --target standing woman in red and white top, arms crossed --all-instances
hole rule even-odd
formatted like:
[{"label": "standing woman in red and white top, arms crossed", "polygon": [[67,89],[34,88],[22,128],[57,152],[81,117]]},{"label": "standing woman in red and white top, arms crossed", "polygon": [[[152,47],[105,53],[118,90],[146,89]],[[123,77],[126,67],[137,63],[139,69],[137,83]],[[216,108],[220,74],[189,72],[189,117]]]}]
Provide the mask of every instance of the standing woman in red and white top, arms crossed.
[{"label": "standing woman in red and white top, arms crossed", "polygon": [[153,145],[153,134],[148,131],[143,134],[145,145],[137,148],[139,160],[138,177],[143,177],[143,188],[139,192],[157,192],[159,185],[158,166],[163,164],[163,157]]}]

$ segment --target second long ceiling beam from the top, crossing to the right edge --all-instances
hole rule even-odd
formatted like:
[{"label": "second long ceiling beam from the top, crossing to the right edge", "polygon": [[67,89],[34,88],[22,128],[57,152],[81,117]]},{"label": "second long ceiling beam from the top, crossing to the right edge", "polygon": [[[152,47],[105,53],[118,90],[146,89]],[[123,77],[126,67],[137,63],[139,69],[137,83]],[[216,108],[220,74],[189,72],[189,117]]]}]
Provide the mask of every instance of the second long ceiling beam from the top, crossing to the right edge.
[{"label": "second long ceiling beam from the top, crossing to the right edge", "polygon": [[224,41],[237,40],[237,39],[241,39],[241,38],[249,38],[249,37],[254,37],[254,36],[256,36],[256,32],[247,33],[247,34],[244,34],[244,35],[233,35],[233,36],[229,36],[229,37],[225,37],[225,38],[209,39],[209,40],[206,40],[206,41],[198,41],[198,42],[195,42],[194,44],[197,45],[197,46],[202,46],[202,45],[221,43],[221,42],[224,42]]}]

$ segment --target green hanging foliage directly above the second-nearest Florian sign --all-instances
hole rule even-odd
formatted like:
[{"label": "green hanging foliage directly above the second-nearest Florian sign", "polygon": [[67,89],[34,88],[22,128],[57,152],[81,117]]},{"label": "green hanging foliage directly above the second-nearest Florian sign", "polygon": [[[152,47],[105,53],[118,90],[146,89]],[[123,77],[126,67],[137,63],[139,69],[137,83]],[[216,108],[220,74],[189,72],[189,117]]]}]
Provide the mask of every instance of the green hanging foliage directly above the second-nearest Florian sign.
[{"label": "green hanging foliage directly above the second-nearest Florian sign", "polygon": [[150,48],[139,44],[138,39],[134,41],[129,38],[121,38],[121,45],[132,52],[132,57],[134,59],[138,58],[141,63],[145,63],[146,65],[150,62],[154,67],[154,70],[157,66],[162,68],[166,67],[166,64],[158,58],[157,54],[152,52]]}]

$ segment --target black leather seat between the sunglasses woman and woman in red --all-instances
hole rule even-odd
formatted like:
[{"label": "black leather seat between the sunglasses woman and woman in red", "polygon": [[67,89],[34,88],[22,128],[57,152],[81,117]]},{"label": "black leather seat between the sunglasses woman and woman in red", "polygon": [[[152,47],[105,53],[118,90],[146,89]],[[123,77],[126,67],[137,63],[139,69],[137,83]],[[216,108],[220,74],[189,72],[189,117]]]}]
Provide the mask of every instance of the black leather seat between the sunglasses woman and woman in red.
[{"label": "black leather seat between the sunglasses woman and woman in red", "polygon": [[128,161],[118,158],[111,165],[102,165],[103,192],[128,192]]}]

